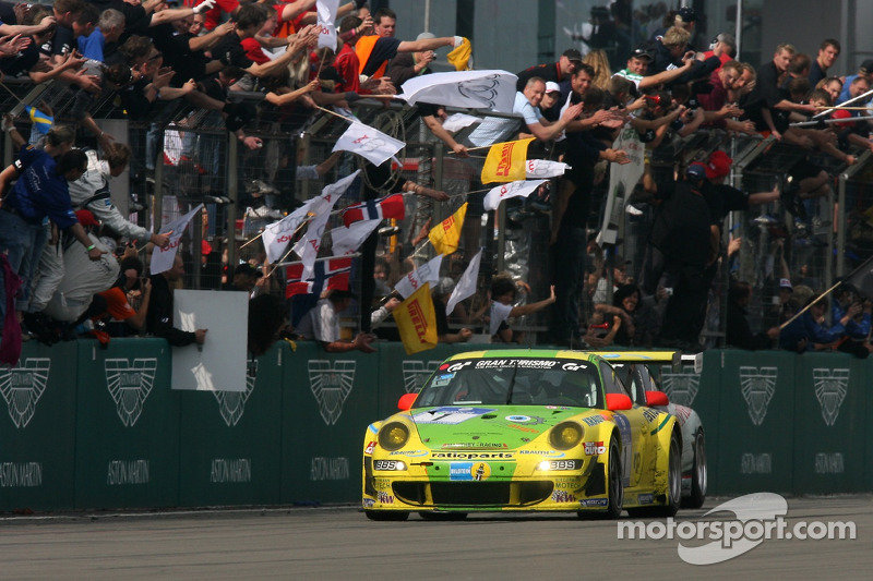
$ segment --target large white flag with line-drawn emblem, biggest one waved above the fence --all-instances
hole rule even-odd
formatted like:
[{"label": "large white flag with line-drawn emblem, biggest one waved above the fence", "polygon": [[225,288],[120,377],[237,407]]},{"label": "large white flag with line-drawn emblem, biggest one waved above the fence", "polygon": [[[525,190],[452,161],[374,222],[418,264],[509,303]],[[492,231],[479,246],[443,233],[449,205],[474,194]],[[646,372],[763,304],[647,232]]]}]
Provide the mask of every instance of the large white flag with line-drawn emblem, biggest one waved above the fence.
[{"label": "large white flag with line-drawn emblem, biggest one waved above the fence", "polygon": [[518,77],[506,71],[452,71],[414,76],[397,98],[511,113]]}]

